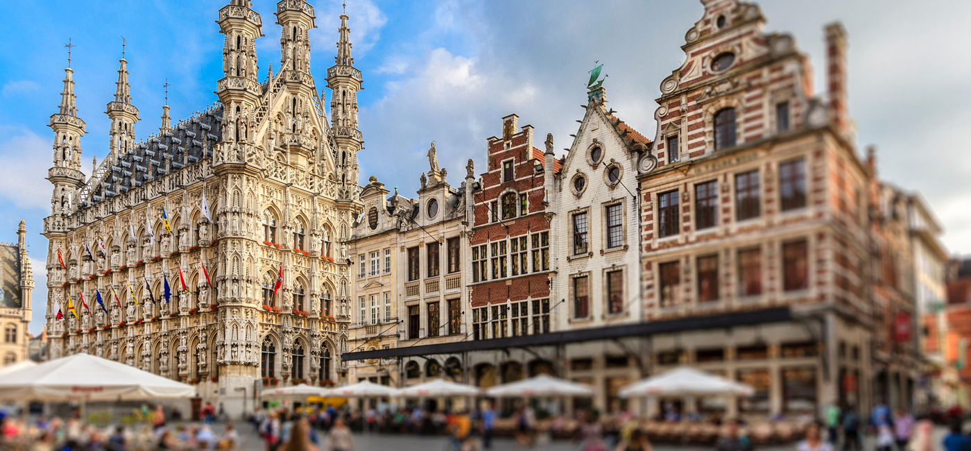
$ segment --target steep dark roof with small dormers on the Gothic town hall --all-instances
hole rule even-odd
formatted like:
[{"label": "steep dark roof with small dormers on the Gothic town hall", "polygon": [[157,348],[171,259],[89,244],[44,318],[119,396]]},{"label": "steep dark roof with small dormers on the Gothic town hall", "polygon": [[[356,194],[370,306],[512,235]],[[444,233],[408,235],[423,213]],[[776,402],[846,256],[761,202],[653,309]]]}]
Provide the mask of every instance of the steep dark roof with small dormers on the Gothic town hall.
[{"label": "steep dark roof with small dormers on the Gothic town hall", "polygon": [[[119,156],[114,165],[109,165],[106,158],[89,182],[87,188],[91,189],[91,195],[83,200],[81,206],[86,207],[111,198],[119,192],[141,187],[169,172],[176,172],[212,156],[213,145],[221,139],[221,105],[179,121],[171,130],[161,135],[152,135],[136,145],[133,152]],[[203,143],[206,141],[208,144],[203,150]],[[168,170],[166,160],[171,160]]]}]

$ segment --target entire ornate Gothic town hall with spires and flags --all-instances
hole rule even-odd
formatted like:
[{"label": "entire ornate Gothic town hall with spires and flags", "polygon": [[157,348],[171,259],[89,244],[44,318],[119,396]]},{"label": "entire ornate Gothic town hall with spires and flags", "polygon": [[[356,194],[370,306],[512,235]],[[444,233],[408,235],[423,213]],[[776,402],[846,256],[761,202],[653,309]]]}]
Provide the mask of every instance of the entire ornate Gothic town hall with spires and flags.
[{"label": "entire ornate Gothic town hall with spires and flags", "polygon": [[[163,121],[142,142],[122,59],[108,106],[110,152],[87,180],[84,121],[66,70],[51,116],[54,192],[44,227],[49,358],[86,352],[199,384],[200,396],[230,413],[242,410],[254,382],[335,377],[336,367],[322,365],[336,360],[321,356],[347,350],[347,242],[361,212],[356,99],[341,96],[327,120],[309,66],[314,9],[284,0],[276,16],[281,69],[260,82],[260,16],[247,0],[223,7],[218,103],[171,127]],[[353,93],[361,78],[341,18],[327,86]]]}]

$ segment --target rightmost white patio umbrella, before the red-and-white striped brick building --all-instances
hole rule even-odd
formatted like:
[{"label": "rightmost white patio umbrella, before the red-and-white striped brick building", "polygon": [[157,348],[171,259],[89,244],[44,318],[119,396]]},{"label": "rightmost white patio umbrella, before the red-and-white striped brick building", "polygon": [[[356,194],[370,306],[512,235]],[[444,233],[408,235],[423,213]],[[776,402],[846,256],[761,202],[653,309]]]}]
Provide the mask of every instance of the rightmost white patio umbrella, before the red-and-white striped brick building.
[{"label": "rightmost white patio umbrella, before the red-and-white striped brick building", "polygon": [[679,366],[620,389],[621,398],[635,397],[751,397],[752,387],[689,366]]}]

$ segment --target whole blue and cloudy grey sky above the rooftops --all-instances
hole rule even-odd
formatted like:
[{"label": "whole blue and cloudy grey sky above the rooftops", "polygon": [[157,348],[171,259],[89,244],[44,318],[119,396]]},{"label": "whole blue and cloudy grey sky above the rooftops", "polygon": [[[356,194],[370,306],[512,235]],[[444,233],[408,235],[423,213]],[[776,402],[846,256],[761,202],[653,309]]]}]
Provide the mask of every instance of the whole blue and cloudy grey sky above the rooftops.
[{"label": "whole blue and cloudy grey sky above the rooftops", "polygon": [[[158,129],[162,84],[168,79],[172,117],[179,120],[216,100],[222,35],[215,23],[227,0],[18,1],[4,6],[0,40],[0,239],[16,240],[27,221],[34,259],[34,322],[44,322],[47,240],[39,233],[50,212],[52,140],[48,118],[60,100],[63,45],[77,46],[72,67],[80,116],[84,171],[106,154],[108,118],[121,36],[127,40],[133,103],[144,138]],[[311,2],[311,68],[324,86],[337,40],[340,0]],[[643,0],[520,2],[349,0],[365,150],[361,180],[378,176],[403,193],[418,188],[424,153],[436,142],[442,165],[462,174],[466,158],[484,162],[485,138],[500,118],[517,113],[537,136],[552,132],[557,148],[586,100],[586,71],[605,64],[611,106],[649,137],[660,81],[678,67],[686,30],[700,2]],[[971,158],[963,131],[971,123],[971,2],[925,0],[764,0],[767,30],[792,33],[815,68],[822,90],[822,26],[840,19],[850,34],[850,111],[860,152],[874,144],[880,174],[921,191],[947,229],[952,252],[971,253]],[[254,0],[263,19],[257,41],[261,78],[279,65],[275,2]],[[329,98],[329,92],[328,92]],[[562,144],[562,145],[558,145]],[[395,157],[388,157],[388,156]],[[456,177],[456,176],[453,176]],[[457,185],[460,181],[453,179]],[[3,232],[7,230],[7,232]]]}]

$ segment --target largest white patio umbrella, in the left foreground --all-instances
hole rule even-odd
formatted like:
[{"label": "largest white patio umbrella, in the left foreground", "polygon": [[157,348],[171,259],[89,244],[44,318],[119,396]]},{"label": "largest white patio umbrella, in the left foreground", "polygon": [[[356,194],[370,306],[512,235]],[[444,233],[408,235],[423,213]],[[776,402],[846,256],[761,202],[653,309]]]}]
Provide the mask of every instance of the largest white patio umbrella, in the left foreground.
[{"label": "largest white patio umbrella, in the left foreground", "polygon": [[74,354],[0,377],[0,399],[117,400],[191,398],[195,387],[127,364]]}]

